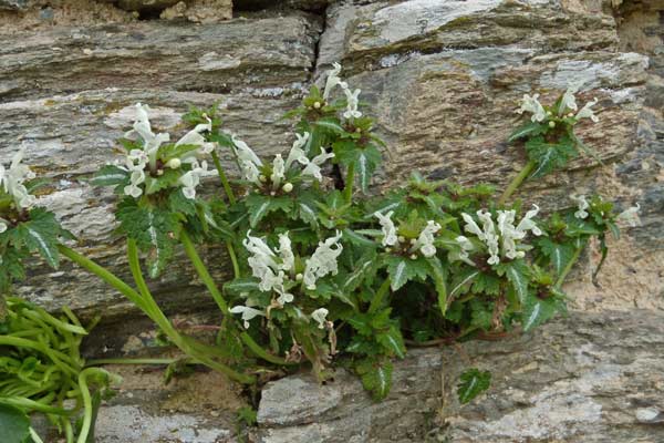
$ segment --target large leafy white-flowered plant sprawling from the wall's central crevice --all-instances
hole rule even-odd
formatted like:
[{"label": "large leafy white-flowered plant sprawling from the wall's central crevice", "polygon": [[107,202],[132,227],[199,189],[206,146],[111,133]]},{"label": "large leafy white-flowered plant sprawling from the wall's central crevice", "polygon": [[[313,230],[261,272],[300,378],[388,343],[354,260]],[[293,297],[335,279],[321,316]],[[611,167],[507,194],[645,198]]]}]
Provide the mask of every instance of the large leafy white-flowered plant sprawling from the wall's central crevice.
[{"label": "large leafy white-flowered plant sprawling from the wall's central crevice", "polygon": [[[338,361],[383,399],[406,343],[528,331],[564,312],[562,284],[582,250],[599,238],[605,255],[606,233],[618,235],[612,204],[575,196],[575,208],[542,217],[537,205],[508,200],[525,179],[584,150],[574,126],[596,119],[594,102],[574,113],[573,90],[553,106],[523,97],[520,111],[532,117],[510,141],[525,142],[529,161],[498,200],[491,186],[417,173],[377,196],[372,177],[386,146],[340,72],[335,65],[323,90],[312,86],[288,114],[298,120],[292,146],[271,159],[224,132],[216,107],[187,113],[191,130],[173,143],[154,133],[149,107],[136,105],[123,158],[93,178],[118,195],[136,289],[62,244],[51,249],[121,291],[194,362],[243,383],[257,381],[258,364],[302,362],[325,380]],[[220,181],[222,195],[200,195],[207,177]],[[227,250],[226,282],[198,254],[212,245]],[[179,247],[222,315],[215,344],[178,330],[145,281],[142,262],[158,278]],[[473,380],[486,389],[489,377],[465,374],[461,401],[481,392]]]}]

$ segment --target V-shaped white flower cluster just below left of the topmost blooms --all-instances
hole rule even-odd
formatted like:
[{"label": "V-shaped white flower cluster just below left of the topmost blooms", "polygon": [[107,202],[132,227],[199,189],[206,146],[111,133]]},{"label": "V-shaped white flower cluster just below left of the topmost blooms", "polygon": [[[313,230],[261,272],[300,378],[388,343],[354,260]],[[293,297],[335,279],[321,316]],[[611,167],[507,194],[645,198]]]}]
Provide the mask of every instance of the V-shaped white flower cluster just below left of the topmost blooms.
[{"label": "V-shaped white flower cluster just below left of the topmost blooms", "polygon": [[[247,143],[239,140],[236,135],[231,135],[234,151],[242,177],[257,187],[264,188],[271,195],[276,195],[279,190],[290,193],[293,189],[293,184],[288,179],[295,178],[298,175],[302,178],[311,177],[321,182],[323,179],[321,166],[328,159],[333,158],[334,154],[321,148],[321,153],[310,159],[303,150],[309,141],[309,133],[295,134],[295,137],[286,161],[281,154],[277,154],[272,161],[272,165],[263,165],[262,161]],[[298,164],[302,167],[294,167]]]}]

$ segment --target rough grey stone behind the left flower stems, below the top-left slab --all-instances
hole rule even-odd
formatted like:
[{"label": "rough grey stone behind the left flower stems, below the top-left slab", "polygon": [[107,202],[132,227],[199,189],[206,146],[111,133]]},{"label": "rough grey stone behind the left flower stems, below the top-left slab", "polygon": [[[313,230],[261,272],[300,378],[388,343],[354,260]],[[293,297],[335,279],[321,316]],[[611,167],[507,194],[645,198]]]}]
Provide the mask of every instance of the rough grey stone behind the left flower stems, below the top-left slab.
[{"label": "rough grey stone behind the left flower stems, below the top-left slab", "polygon": [[[124,245],[113,236],[115,197],[110,189],[93,188],[87,179],[101,165],[117,158],[113,147],[131,126],[133,104],[149,103],[154,109],[155,127],[176,136],[184,131],[174,126],[189,105],[208,106],[219,102],[227,130],[239,134],[258,152],[268,154],[292,143],[289,123],[280,121],[297,103],[298,99],[289,94],[281,89],[232,95],[103,90],[3,103],[0,104],[0,138],[6,142],[0,145],[0,161],[7,162],[23,143],[29,164],[40,175],[53,179],[50,194],[43,196],[42,202],[80,238],[79,247],[83,251],[128,277]],[[229,155],[225,155],[226,166],[235,171]],[[212,254],[208,265],[217,276],[224,275],[226,260],[219,250]],[[183,307],[183,300],[187,300],[184,305],[194,307],[209,300],[207,296],[194,297],[197,292],[191,286],[194,278],[190,267],[174,266],[160,281],[154,282],[154,290],[167,303]],[[35,266],[19,292],[50,309],[63,305],[87,311],[104,309],[107,318],[128,308],[120,295],[69,262],[55,272],[45,266]]]}]

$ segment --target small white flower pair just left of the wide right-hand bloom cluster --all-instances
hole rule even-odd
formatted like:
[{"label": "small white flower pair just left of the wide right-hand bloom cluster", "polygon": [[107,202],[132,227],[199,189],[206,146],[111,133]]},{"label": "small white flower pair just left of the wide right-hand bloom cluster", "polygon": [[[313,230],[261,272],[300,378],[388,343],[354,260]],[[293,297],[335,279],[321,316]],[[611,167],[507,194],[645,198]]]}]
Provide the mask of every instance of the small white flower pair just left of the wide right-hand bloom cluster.
[{"label": "small white flower pair just left of the wide right-hand bloom cluster", "polygon": [[419,231],[419,235],[408,240],[405,236],[397,235],[396,226],[394,225],[394,222],[392,222],[393,215],[393,210],[387,214],[374,213],[374,217],[376,217],[381,224],[381,231],[383,235],[381,244],[385,248],[388,248],[388,251],[397,249],[409,254],[412,259],[417,258],[417,253],[427,258],[436,255],[436,246],[434,245],[436,240],[435,234],[442,229],[442,226],[438,223],[428,220],[426,226]]}]

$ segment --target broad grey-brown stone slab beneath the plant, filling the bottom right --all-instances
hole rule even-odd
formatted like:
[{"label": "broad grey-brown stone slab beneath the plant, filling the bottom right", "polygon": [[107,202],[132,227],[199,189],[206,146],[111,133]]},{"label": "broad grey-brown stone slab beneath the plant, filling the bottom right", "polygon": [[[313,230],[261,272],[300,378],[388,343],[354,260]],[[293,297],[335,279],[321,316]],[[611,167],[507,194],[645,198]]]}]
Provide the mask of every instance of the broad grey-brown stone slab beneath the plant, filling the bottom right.
[{"label": "broad grey-brown stone slab beneath the plant, filling the bottom right", "polygon": [[[323,387],[294,375],[266,387],[259,441],[654,443],[664,439],[662,346],[661,315],[575,312],[507,340],[412,350],[382,403],[343,372]],[[490,370],[492,385],[461,406],[469,365]]]}]

